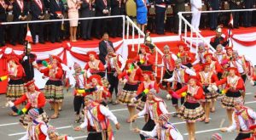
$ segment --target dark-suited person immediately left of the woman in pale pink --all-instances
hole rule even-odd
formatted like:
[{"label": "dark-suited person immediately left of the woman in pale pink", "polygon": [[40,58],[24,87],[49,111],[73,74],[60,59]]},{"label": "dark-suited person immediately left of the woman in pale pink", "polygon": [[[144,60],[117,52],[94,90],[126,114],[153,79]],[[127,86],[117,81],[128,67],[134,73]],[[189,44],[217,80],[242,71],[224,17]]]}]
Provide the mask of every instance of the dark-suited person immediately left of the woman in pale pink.
[{"label": "dark-suited person immediately left of the woman in pale pink", "polygon": [[[64,4],[61,0],[50,0],[49,20],[60,20],[64,16]],[[61,42],[61,21],[52,22],[50,30],[50,42]]]}]

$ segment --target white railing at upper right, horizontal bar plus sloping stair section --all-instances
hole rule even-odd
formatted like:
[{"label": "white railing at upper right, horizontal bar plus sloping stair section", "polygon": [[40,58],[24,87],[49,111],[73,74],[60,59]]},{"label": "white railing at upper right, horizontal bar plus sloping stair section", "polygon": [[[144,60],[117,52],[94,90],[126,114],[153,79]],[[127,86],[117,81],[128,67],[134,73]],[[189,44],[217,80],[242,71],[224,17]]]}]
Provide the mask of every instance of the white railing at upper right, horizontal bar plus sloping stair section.
[{"label": "white railing at upper right, horizontal bar plus sloping stair section", "polygon": [[[236,10],[212,10],[212,11],[201,11],[201,14],[206,14],[206,13],[226,13],[226,12],[245,12],[245,11],[255,11],[256,8],[250,8],[250,9],[236,9]],[[195,40],[195,49],[196,52],[198,50],[198,42],[201,40],[202,42],[204,42],[208,48],[210,48],[210,50],[212,52],[215,52],[215,49],[212,48],[212,45],[207,42],[207,40],[201,36],[201,33],[199,31],[196,31],[195,28],[189,23],[188,20],[186,20],[183,17],[183,14],[192,14],[193,12],[179,12],[178,13],[178,17],[179,17],[179,30],[178,30],[178,35],[182,36],[182,22],[184,22],[184,42],[187,42],[187,39],[190,38],[190,42],[189,42],[189,47],[192,48],[193,46],[193,40]],[[190,28],[190,37],[188,37],[188,25]],[[193,37],[193,33],[195,33],[196,37]],[[181,37],[182,39],[182,37]],[[191,50],[191,49],[190,49]]]}]

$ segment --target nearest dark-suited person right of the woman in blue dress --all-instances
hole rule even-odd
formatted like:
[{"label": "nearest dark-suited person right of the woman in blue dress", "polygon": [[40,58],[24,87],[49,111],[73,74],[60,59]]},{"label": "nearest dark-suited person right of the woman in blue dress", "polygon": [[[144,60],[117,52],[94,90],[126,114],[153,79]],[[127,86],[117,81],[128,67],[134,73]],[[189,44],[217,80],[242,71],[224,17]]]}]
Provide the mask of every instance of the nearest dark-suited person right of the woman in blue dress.
[{"label": "nearest dark-suited person right of the woman in blue dress", "polygon": [[155,25],[156,33],[159,35],[165,34],[165,15],[166,2],[164,0],[155,1]]}]

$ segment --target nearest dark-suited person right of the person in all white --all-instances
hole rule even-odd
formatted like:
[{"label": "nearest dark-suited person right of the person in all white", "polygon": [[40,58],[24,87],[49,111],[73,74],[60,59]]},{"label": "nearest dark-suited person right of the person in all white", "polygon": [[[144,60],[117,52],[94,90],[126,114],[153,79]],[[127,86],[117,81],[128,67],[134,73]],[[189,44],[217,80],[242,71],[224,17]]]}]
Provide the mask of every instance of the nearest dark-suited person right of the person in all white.
[{"label": "nearest dark-suited person right of the person in all white", "polygon": [[[208,0],[207,2],[208,2],[207,4],[208,4],[210,11],[219,9],[219,6],[220,6],[219,0]],[[218,13],[211,13],[210,14],[210,29],[212,31],[216,30],[217,25],[218,25]]]}]

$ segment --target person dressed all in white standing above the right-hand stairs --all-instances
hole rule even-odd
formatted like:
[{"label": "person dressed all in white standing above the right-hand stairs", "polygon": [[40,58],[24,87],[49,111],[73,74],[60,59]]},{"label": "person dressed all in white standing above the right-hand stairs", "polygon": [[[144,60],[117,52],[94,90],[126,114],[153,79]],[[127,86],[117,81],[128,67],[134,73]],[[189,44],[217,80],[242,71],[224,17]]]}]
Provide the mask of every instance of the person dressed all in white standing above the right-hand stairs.
[{"label": "person dressed all in white standing above the right-hand stairs", "polygon": [[199,31],[200,19],[201,19],[201,0],[190,0],[192,20],[191,25],[195,28],[196,31]]}]

